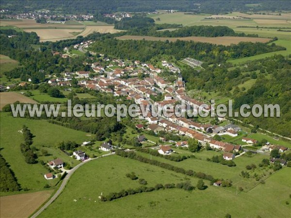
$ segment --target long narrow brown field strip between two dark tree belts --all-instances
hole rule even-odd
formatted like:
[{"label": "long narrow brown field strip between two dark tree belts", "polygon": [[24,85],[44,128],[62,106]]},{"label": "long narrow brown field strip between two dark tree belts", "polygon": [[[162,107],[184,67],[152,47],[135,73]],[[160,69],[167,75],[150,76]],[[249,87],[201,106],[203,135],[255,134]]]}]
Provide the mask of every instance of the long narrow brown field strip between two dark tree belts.
[{"label": "long narrow brown field strip between two dark tree belts", "polygon": [[252,38],[252,37],[235,37],[235,36],[222,36],[222,37],[198,37],[198,36],[189,36],[189,37],[153,37],[153,36],[132,36],[132,35],[123,35],[116,37],[116,39],[121,40],[150,40],[150,41],[165,41],[169,40],[170,42],[175,42],[177,40],[185,40],[185,41],[195,41],[195,42],[203,42],[203,43],[212,43],[218,45],[229,46],[231,44],[238,44],[240,42],[268,42],[270,39],[267,38]]}]

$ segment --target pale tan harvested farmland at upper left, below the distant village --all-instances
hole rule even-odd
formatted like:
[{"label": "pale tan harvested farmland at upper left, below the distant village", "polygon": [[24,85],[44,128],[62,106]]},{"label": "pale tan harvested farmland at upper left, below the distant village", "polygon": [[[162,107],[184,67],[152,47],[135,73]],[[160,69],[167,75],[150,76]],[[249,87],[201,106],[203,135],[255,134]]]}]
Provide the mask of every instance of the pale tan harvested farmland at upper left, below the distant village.
[{"label": "pale tan harvested farmland at upper left, below the distant village", "polygon": [[[64,39],[73,39],[77,36],[87,36],[94,31],[100,33],[115,33],[119,30],[115,30],[112,25],[108,25],[103,22],[77,22],[67,21],[65,24],[62,23],[36,23],[35,20],[0,20],[0,26],[14,26],[21,28],[27,32],[36,32],[40,36],[40,41],[58,41]],[[81,32],[79,34],[72,34],[72,32]]]}]

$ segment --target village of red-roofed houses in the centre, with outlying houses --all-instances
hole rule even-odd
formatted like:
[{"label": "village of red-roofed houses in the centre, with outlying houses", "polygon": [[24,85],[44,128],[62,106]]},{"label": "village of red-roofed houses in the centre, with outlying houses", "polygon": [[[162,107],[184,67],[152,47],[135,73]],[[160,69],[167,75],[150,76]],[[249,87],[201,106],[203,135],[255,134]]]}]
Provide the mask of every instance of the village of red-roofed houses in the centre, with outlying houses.
[{"label": "village of red-roofed houses in the centre, with outlying houses", "polygon": [[[85,41],[73,46],[76,50],[88,49],[92,44],[92,41]],[[69,48],[65,47],[64,52],[69,52]],[[60,52],[54,52],[54,55],[61,55],[63,58],[67,58],[67,54]],[[124,96],[127,100],[134,102],[137,105],[149,108],[155,106],[167,106],[168,112],[174,112],[174,107],[177,103],[184,101],[186,106],[192,106],[198,108],[201,105],[208,105],[200,99],[194,99],[187,95],[185,90],[185,82],[180,73],[180,69],[166,60],[161,61],[161,67],[156,67],[150,63],[140,62],[139,60],[123,61],[119,59],[110,59],[100,54],[101,62],[84,62],[84,65],[90,65],[90,71],[77,71],[77,72],[65,72],[63,77],[57,78],[50,75],[48,84],[50,86],[65,87],[66,90],[71,90],[71,80],[73,78],[78,79],[78,86],[87,88],[89,90],[95,90],[104,93],[111,93],[116,97]],[[94,60],[93,57],[89,60]],[[190,66],[201,66],[202,62],[194,59],[185,59]],[[106,65],[104,66],[104,62]],[[160,76],[164,71],[170,72],[177,78],[176,81],[170,82],[167,78]],[[26,82],[25,82],[26,83]],[[25,85],[20,83],[19,85]],[[158,96],[162,98],[158,99]],[[182,108],[187,111],[187,107]],[[205,111],[209,109],[203,108]],[[192,119],[185,117],[177,117],[173,114],[170,117],[154,117],[151,112],[148,112],[146,116],[139,109],[139,115],[136,117],[137,124],[135,127],[139,130],[152,131],[158,134],[160,131],[170,132],[179,136],[194,139],[199,142],[203,147],[209,145],[211,149],[223,152],[223,158],[225,160],[234,160],[236,157],[243,155],[247,150],[247,146],[252,146],[258,143],[258,140],[243,137],[242,144],[232,144],[215,140],[215,136],[228,135],[230,137],[238,136],[241,128],[238,125],[227,124],[224,126],[213,125],[210,123],[198,123]],[[226,118],[218,117],[220,122],[226,120]],[[142,124],[143,123],[143,124]],[[146,125],[144,125],[146,124]],[[138,142],[143,143],[146,139],[144,135],[138,136]],[[161,139],[163,141],[163,139]],[[165,141],[164,141],[165,142]],[[176,153],[171,147],[176,148],[188,148],[188,141],[169,141],[169,144],[160,144],[158,146],[152,145],[152,149],[158,150],[161,155],[171,155]],[[172,144],[171,144],[172,142]],[[84,145],[84,144],[83,144]],[[117,149],[111,142],[103,142],[99,148],[104,152],[114,152]],[[265,142],[264,145],[257,151],[261,154],[269,155],[272,150],[277,149],[280,153],[287,150],[284,146],[273,145],[269,142]],[[85,152],[74,151],[74,158],[80,161],[88,159]],[[275,163],[279,161],[282,166],[287,162],[283,159],[270,157],[270,162]],[[49,162],[49,166],[54,169],[64,167],[64,163],[60,159],[52,160]],[[52,179],[54,175],[46,174],[45,178]]]}]

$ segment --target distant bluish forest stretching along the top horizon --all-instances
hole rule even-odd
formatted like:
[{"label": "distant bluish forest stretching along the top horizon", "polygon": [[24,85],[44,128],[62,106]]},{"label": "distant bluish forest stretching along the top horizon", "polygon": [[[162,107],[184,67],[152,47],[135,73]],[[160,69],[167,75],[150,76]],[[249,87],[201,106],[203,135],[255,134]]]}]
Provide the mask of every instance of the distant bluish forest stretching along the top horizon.
[{"label": "distant bluish forest stretching along the top horizon", "polygon": [[153,12],[155,10],[179,10],[183,12],[219,14],[232,11],[246,12],[250,7],[246,4],[258,4],[251,7],[256,11],[290,11],[289,1],[268,0],[84,0],[82,4],[77,0],[1,0],[1,9],[8,9],[12,14],[29,13],[35,10],[47,9],[62,14],[110,14],[114,12]]}]

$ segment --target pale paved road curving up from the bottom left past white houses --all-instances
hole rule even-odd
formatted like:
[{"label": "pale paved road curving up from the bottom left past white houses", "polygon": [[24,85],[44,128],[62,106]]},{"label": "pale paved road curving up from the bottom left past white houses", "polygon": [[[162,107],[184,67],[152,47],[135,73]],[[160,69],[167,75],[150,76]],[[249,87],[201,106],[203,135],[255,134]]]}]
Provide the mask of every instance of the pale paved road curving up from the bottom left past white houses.
[{"label": "pale paved road curving up from the bottom left past white houses", "polygon": [[84,162],[82,162],[81,164],[77,165],[76,167],[74,167],[72,170],[70,170],[64,180],[63,180],[63,183],[61,184],[61,186],[59,187],[59,189],[57,190],[57,192],[51,197],[51,199],[49,199],[49,201],[42,207],[40,208],[35,214],[32,215],[31,218],[36,218],[38,215],[40,215],[45,209],[47,209],[47,207],[54,201],[57,199],[57,197],[62,193],[62,191],[64,190],[67,182],[69,181],[69,178],[71,177],[71,175],[76,171],[78,170],[79,167],[81,167],[82,165],[84,165],[85,163],[91,161],[91,160],[95,160],[95,159],[98,159],[100,157],[104,157],[104,156],[109,156],[109,155],[114,155],[115,152],[111,153],[111,154],[106,154],[106,155],[102,155],[102,156],[98,156],[98,157],[95,157],[95,158],[91,158],[91,159],[88,159]]}]

